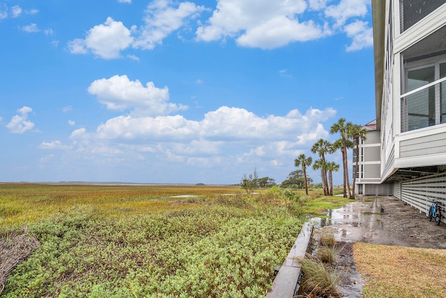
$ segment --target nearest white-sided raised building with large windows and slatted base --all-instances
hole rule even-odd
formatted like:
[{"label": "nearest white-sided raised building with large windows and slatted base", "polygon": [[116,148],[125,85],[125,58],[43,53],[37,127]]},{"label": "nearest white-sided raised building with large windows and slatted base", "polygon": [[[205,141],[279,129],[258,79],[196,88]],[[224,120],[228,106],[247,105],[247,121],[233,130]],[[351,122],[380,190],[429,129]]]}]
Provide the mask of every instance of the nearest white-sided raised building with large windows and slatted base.
[{"label": "nearest white-sided raised building with large windows and slatted base", "polygon": [[380,183],[446,205],[446,0],[372,0]]}]

